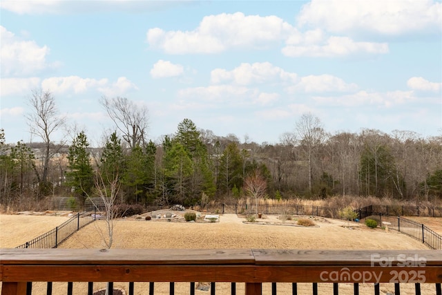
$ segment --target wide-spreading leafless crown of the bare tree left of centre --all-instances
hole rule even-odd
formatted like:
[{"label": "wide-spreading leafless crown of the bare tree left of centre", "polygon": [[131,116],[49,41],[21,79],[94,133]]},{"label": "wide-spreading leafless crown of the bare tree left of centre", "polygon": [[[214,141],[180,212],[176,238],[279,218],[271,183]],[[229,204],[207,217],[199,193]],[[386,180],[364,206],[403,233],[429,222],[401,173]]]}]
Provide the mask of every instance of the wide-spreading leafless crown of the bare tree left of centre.
[{"label": "wide-spreading leafless crown of the bare tree left of centre", "polygon": [[117,129],[122,132],[124,141],[131,149],[144,144],[148,131],[148,108],[140,106],[126,97],[102,97],[100,104],[104,107]]}]

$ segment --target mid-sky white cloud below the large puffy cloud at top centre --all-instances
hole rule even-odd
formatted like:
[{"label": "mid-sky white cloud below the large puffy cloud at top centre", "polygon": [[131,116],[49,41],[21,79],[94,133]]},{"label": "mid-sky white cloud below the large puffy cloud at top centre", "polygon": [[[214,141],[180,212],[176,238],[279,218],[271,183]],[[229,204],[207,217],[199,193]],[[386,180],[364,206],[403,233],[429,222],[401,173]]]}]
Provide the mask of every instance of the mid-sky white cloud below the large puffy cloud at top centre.
[{"label": "mid-sky white cloud below the large puffy cloud at top centre", "polygon": [[243,63],[233,70],[216,68],[211,71],[211,82],[214,84],[234,82],[238,85],[249,85],[263,82],[295,82],[296,73],[289,73],[273,66],[269,62],[254,64]]}]

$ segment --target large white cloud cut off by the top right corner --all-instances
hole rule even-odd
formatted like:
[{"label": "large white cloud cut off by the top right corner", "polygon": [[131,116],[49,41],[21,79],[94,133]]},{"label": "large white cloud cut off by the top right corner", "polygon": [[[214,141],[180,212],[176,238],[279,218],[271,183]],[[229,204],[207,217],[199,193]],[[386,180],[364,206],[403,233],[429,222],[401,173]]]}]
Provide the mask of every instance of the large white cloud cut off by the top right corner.
[{"label": "large white cloud cut off by the top right corner", "polygon": [[334,33],[405,35],[441,32],[441,15],[442,3],[432,0],[312,0],[297,19]]}]

